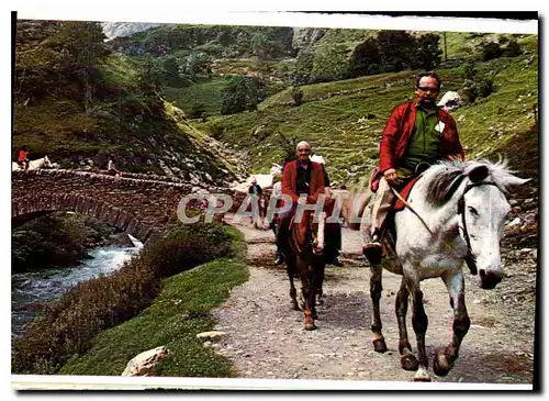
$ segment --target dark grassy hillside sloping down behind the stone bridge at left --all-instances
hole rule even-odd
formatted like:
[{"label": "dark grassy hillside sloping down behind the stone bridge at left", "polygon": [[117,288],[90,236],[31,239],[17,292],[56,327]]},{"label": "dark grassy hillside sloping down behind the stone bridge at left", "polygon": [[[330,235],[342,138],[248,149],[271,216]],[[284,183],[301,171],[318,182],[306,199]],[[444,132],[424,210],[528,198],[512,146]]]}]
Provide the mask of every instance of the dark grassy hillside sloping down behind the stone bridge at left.
[{"label": "dark grassy hillside sloping down behind the stone bridge at left", "polygon": [[[165,102],[154,64],[110,53],[93,23],[18,23],[14,153],[44,155],[61,167],[85,159],[125,171],[177,171],[223,185],[243,166]],[[167,170],[169,168],[169,170]]]}]

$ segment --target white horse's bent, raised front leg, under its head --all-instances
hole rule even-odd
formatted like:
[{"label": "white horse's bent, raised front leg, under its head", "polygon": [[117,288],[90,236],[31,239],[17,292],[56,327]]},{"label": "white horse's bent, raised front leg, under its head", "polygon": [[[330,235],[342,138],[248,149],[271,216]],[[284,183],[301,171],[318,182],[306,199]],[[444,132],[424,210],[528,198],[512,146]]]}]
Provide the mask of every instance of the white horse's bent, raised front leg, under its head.
[{"label": "white horse's bent, raised front leg, under its head", "polygon": [[446,376],[453,367],[453,363],[458,359],[459,347],[469,326],[471,320],[467,314],[466,308],[466,291],[463,282],[463,274],[459,270],[453,276],[442,278],[448,293],[450,294],[450,307],[453,309],[453,334],[451,342],[446,348],[437,349],[433,359],[433,371],[437,376]]}]

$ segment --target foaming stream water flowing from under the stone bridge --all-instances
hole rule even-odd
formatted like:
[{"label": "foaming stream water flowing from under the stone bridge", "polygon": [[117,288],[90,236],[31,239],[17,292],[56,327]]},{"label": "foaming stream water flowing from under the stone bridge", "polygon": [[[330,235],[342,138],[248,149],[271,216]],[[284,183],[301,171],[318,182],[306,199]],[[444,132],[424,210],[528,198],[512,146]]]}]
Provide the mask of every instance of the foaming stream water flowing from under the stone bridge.
[{"label": "foaming stream water flowing from under the stone bridge", "polygon": [[55,301],[69,288],[99,275],[109,276],[136,255],[143,244],[130,236],[133,247],[105,246],[89,252],[93,258],[76,267],[44,269],[11,276],[11,333],[19,338],[46,302]]}]

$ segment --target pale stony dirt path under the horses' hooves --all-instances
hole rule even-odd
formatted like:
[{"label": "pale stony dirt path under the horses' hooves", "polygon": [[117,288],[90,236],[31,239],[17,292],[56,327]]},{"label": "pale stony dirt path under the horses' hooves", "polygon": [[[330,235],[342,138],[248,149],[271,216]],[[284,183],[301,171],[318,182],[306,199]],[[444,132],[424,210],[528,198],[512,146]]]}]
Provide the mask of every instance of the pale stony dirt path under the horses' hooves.
[{"label": "pale stony dirt path under the horses' hooves", "polygon": [[[344,229],[345,267],[328,266],[324,305],[318,307],[317,330],[303,328],[303,313],[291,310],[289,282],[283,266],[273,265],[270,231],[236,225],[248,243],[250,278],[235,288],[229,300],[214,311],[217,328],[227,333],[220,353],[227,356],[243,378],[412,380],[400,367],[399,333],[394,315],[400,276],[383,272],[381,312],[385,354],[371,345],[369,269],[360,255],[357,232]],[[536,261],[531,249],[506,254],[507,277],[498,289],[479,288],[467,277],[467,308],[472,321],[460,358],[446,378],[432,372],[436,347],[451,335],[451,310],[441,280],[422,283],[428,316],[426,334],[433,381],[531,383],[534,355],[534,296]],[[513,263],[513,257],[519,263]],[[519,285],[519,286],[518,286]],[[520,291],[514,291],[516,288]],[[513,292],[514,291],[514,292]],[[415,336],[408,311],[408,335]]]}]

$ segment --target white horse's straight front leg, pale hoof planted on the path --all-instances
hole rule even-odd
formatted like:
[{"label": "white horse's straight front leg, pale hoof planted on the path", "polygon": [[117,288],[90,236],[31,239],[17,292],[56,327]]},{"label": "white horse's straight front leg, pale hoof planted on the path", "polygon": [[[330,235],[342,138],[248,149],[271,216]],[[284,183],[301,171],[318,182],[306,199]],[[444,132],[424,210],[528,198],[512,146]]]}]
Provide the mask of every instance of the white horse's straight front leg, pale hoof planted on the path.
[{"label": "white horse's straight front leg, pale hoof planted on the path", "polygon": [[403,279],[406,281],[407,289],[412,294],[412,327],[414,327],[415,338],[417,342],[417,358],[419,366],[417,372],[414,375],[415,381],[430,381],[427,374],[429,361],[425,350],[425,333],[427,332],[428,319],[423,308],[423,292],[419,289],[419,281],[412,279],[404,275]]}]

